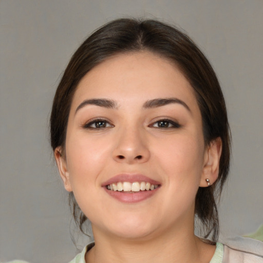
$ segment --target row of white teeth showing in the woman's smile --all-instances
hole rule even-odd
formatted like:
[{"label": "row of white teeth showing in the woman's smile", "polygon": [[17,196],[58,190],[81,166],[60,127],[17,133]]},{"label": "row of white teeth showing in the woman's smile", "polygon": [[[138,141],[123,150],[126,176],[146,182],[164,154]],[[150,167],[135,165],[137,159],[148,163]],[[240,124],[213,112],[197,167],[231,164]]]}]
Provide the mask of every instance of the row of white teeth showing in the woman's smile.
[{"label": "row of white teeth showing in the woman's smile", "polygon": [[153,191],[158,187],[158,184],[151,184],[149,182],[117,182],[108,184],[107,189],[110,191],[123,192],[139,192],[139,191]]}]

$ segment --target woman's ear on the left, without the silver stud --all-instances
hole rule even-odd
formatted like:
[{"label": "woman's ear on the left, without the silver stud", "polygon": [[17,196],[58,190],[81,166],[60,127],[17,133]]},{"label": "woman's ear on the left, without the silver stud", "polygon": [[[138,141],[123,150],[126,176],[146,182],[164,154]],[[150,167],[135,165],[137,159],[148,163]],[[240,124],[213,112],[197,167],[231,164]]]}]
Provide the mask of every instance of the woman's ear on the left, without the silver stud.
[{"label": "woman's ear on the left, without the silver stud", "polygon": [[64,183],[64,187],[68,192],[72,192],[72,187],[69,180],[69,173],[67,169],[67,162],[65,157],[62,155],[62,149],[60,146],[55,148],[54,156],[59,168],[60,177]]}]

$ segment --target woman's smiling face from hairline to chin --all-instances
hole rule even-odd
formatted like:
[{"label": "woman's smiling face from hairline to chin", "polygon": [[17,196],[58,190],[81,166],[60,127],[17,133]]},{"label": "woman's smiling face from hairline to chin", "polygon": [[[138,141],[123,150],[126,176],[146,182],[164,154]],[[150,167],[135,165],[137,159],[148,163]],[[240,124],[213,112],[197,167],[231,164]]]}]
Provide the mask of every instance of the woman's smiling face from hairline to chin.
[{"label": "woman's smiling face from hairline to chin", "polygon": [[193,226],[208,149],[194,91],[170,61],[120,54],[89,71],[65,145],[60,173],[95,235],[142,238]]}]

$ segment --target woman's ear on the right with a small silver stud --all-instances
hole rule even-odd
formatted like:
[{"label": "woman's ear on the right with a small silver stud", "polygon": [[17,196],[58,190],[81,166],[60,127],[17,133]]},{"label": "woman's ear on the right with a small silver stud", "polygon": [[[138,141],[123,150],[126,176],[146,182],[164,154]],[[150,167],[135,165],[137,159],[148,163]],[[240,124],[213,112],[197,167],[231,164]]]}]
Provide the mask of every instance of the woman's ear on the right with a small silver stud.
[{"label": "woman's ear on the right with a small silver stud", "polygon": [[[200,182],[201,187],[206,187],[213,184],[218,178],[221,152],[222,140],[220,137],[211,141],[209,146],[205,149],[204,165]],[[206,179],[209,179],[209,181],[206,181]]]}]

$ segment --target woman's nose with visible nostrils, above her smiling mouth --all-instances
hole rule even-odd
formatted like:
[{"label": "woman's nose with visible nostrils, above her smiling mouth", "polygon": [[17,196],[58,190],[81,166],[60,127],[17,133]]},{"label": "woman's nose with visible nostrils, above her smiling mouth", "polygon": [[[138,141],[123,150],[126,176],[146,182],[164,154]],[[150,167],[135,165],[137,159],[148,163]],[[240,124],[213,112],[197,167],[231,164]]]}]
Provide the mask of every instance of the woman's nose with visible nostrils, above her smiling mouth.
[{"label": "woman's nose with visible nostrils, above her smiling mouth", "polygon": [[126,128],[118,133],[113,158],[120,163],[144,163],[149,160],[150,152],[143,131]]}]

